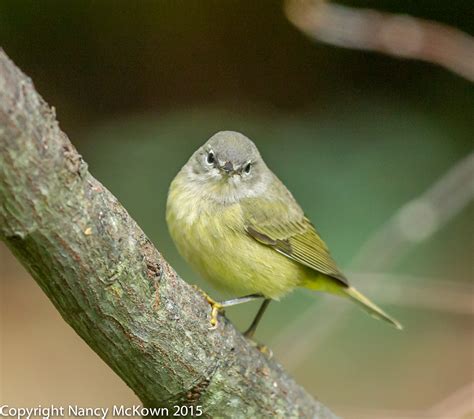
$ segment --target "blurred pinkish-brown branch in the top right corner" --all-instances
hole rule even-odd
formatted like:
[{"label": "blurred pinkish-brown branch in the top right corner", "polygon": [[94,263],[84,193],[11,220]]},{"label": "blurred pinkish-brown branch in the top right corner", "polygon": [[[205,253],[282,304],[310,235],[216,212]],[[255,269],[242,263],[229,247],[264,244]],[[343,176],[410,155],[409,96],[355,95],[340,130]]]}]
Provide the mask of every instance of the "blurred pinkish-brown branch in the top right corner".
[{"label": "blurred pinkish-brown branch in the top right corner", "polygon": [[285,11],[317,41],[427,61],[474,81],[474,40],[448,25],[325,0],[287,0]]}]

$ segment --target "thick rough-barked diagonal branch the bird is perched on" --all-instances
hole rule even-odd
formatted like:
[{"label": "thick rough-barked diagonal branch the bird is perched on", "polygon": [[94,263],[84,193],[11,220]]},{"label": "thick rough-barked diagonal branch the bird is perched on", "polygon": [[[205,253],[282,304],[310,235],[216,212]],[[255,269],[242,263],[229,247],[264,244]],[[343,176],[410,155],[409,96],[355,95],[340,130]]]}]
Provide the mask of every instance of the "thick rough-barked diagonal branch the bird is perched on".
[{"label": "thick rough-barked diagonal branch the bird is perched on", "polygon": [[[162,197],[161,199],[165,199]],[[180,279],[0,49],[0,238],[145,406],[333,418]]]}]

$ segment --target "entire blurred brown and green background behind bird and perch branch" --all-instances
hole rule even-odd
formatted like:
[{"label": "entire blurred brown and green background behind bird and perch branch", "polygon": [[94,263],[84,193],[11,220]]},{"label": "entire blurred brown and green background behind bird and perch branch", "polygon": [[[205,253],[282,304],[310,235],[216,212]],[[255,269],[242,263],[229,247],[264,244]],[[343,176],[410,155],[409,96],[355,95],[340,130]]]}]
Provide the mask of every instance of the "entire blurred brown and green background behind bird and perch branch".
[{"label": "entire blurred brown and green background behind bird and perch branch", "polygon": [[[167,188],[215,132],[252,138],[405,326],[301,290],[270,305],[258,340],[341,416],[474,417],[472,1],[343,4],[0,0],[0,46],[92,174],[215,296],[170,240]],[[0,404],[138,403],[3,244],[0,275]],[[227,315],[245,329],[256,310]]]}]

